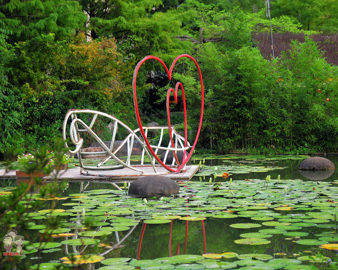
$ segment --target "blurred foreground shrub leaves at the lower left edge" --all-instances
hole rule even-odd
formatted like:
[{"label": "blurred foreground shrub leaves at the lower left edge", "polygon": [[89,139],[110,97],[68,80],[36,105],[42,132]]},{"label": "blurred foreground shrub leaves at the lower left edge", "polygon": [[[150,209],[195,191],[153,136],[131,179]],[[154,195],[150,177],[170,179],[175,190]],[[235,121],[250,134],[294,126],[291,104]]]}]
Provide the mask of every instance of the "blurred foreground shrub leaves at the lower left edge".
[{"label": "blurred foreground shrub leaves at the lower left edge", "polygon": [[[55,141],[52,149],[55,154],[55,163],[61,163],[62,160],[59,159],[59,157],[62,157],[62,151],[65,151],[63,142]],[[46,158],[46,148],[44,147],[41,151],[36,152],[35,154],[36,158],[44,163]],[[15,159],[15,156],[8,157],[8,159],[13,160]],[[21,167],[21,169],[26,172],[33,172],[37,169],[37,166],[43,166],[42,163],[40,165],[37,165],[36,163],[26,164],[24,168]],[[49,170],[49,172],[51,171]],[[49,184],[45,184],[41,178],[36,177],[32,178],[29,184],[22,182],[16,187],[7,188],[7,194],[5,196],[0,196],[0,224],[2,225],[2,229],[0,230],[1,238],[3,238],[10,229],[16,230],[17,232],[20,232],[20,235],[24,236],[24,240],[26,242],[24,244],[25,250],[32,249],[32,246],[30,245],[36,241],[38,243],[53,242],[53,238],[50,233],[41,233],[39,234],[39,237],[38,235],[32,236],[29,233],[30,225],[27,223],[27,219],[29,219],[30,212],[38,212],[43,206],[46,206],[46,200],[52,200],[51,209],[55,208],[56,203],[53,200],[53,197],[58,197],[58,194],[62,194],[62,191],[67,187],[67,183],[65,182],[53,181]],[[46,225],[46,231],[60,228],[60,217],[50,216],[44,219],[44,225]],[[30,246],[30,248],[27,248],[27,246]],[[38,256],[41,255],[41,251],[42,250],[38,251]],[[32,261],[22,260],[24,257],[25,256],[3,256],[1,254],[0,268],[12,269],[15,267],[17,269],[27,269],[32,265]],[[39,264],[40,262],[38,261],[37,263]],[[69,269],[67,266],[61,268]]]}]

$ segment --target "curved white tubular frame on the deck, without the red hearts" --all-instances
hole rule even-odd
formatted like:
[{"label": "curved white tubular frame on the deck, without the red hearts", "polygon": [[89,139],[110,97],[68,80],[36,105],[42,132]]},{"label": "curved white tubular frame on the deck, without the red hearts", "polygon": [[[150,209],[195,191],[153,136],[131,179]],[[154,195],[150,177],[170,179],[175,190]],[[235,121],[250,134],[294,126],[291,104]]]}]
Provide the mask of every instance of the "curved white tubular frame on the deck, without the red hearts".
[{"label": "curved white tubular frame on the deck, without the red hearts", "polygon": [[[93,116],[94,115],[94,116]],[[113,123],[114,128],[112,129],[112,137],[110,141],[110,146],[108,147],[104,141],[96,134],[94,130],[94,124],[97,121],[98,116],[104,116],[111,120]],[[89,124],[86,124],[86,121],[83,121],[79,116],[84,116],[82,119],[88,119],[88,116],[92,117]],[[70,121],[70,125],[69,125]],[[119,129],[119,126],[125,128],[128,132],[128,135],[125,137],[125,139],[122,141],[122,143],[113,151],[114,142],[116,139],[116,135]],[[69,129],[69,130],[68,130]],[[67,112],[64,124],[63,124],[63,140],[65,141],[65,146],[68,148],[67,144],[67,130],[69,132],[69,139],[73,145],[75,145],[74,150],[69,149],[69,153],[72,155],[78,156],[79,159],[79,165],[80,165],[80,173],[81,174],[88,174],[88,171],[102,171],[102,170],[115,170],[115,169],[122,169],[124,167],[132,169],[134,171],[139,172],[141,175],[144,174],[144,170],[142,167],[152,167],[153,173],[152,174],[163,174],[163,172],[158,171],[158,167],[163,167],[160,164],[156,164],[156,159],[152,155],[150,155],[149,150],[147,148],[146,143],[143,139],[139,137],[138,134],[139,128],[132,130],[129,126],[127,126],[125,123],[123,123],[120,119],[116,118],[113,115],[95,111],[95,110],[89,110],[89,109],[71,109]],[[173,146],[171,141],[168,143],[167,146],[161,146],[162,139],[165,130],[168,130],[168,127],[143,127],[144,133],[148,134],[149,130],[157,130],[160,131],[159,139],[156,143],[156,145],[151,145],[153,151],[157,154],[158,151],[164,150],[164,159],[163,163],[166,163],[167,155],[171,151],[175,151],[175,153],[179,151],[185,151],[190,148],[190,144],[188,143],[186,147],[184,147],[184,137],[182,137],[180,134],[178,134],[174,127],[171,128],[172,137],[175,139],[175,145]],[[91,135],[98,143],[99,145],[104,149],[103,152],[83,152],[82,146],[83,146],[83,134],[89,134]],[[137,141],[141,147],[142,147],[142,155],[141,160],[139,164],[132,165],[130,163],[130,157],[132,154],[133,144],[134,141]],[[124,145],[127,145],[127,157],[126,161],[122,161],[119,157],[117,157],[117,154],[119,151],[121,151],[122,147]],[[184,153],[185,153],[184,152]],[[99,162],[96,166],[87,166],[83,164],[82,155],[106,155],[106,157]],[[145,157],[149,158],[150,164],[145,164]],[[115,166],[105,166],[104,164],[109,159],[114,159],[117,161],[118,165]],[[169,166],[175,167],[179,164],[176,164],[176,159],[173,158],[173,161]],[[183,170],[185,167],[183,167]],[[170,173],[171,171],[167,171],[167,173]],[[93,173],[91,173],[93,174]],[[94,173],[95,174],[95,173]],[[99,173],[98,173],[99,174]]]}]

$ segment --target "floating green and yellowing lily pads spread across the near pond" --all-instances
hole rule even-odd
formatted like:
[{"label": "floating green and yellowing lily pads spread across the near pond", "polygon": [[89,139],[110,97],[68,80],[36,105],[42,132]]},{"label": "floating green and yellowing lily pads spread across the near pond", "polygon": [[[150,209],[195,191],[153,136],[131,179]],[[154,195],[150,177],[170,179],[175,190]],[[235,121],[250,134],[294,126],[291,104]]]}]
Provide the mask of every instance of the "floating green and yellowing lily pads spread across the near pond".
[{"label": "floating green and yellowing lily pads spread across the near pond", "polygon": [[[39,254],[43,269],[86,263],[95,264],[96,269],[318,269],[327,262],[318,252],[329,258],[338,251],[335,182],[243,179],[231,186],[215,183],[217,190],[213,183],[179,184],[176,198],[144,200],[117,189],[46,198],[44,206],[53,207],[23,214],[27,231],[36,240],[25,241],[23,258],[34,261]],[[13,190],[2,188],[0,194],[10,196]],[[31,199],[41,197],[26,195],[20,203],[26,205]],[[46,220],[55,217],[62,226],[47,228]],[[135,233],[135,228],[149,224],[167,230],[190,222],[206,224],[205,252],[141,260],[114,253],[123,249],[124,237]],[[213,232],[218,233],[218,246],[208,243]],[[37,236],[42,234],[50,235],[52,241],[40,242]],[[276,243],[284,246],[276,248]],[[32,265],[35,268],[37,264]]]}]

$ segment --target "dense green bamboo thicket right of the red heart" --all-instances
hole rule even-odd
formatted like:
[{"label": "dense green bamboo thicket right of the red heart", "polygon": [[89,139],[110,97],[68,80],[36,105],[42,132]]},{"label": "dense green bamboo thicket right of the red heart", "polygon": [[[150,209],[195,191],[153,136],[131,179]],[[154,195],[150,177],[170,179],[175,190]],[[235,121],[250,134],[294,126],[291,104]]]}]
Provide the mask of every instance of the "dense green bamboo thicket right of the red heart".
[{"label": "dense green bamboo thicket right of the red heart", "polygon": [[229,53],[208,43],[199,53],[207,78],[202,138],[211,138],[218,151],[308,144],[334,151],[336,67],[325,62],[311,39],[293,42],[288,54],[272,62],[248,47]]}]

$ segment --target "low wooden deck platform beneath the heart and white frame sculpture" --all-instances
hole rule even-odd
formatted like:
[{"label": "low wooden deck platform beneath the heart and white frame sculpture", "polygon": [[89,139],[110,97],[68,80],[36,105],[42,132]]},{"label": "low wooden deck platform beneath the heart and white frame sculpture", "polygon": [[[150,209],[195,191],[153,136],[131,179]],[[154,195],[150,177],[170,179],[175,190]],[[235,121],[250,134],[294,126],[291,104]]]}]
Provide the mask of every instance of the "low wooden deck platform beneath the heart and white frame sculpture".
[{"label": "low wooden deck platform beneath the heart and white frame sculpture", "polygon": [[[110,182],[132,182],[135,179],[145,176],[145,175],[154,175],[154,171],[152,167],[144,166],[140,167],[140,169],[144,170],[144,174],[131,170],[129,168],[117,169],[117,170],[108,170],[108,171],[89,171],[87,175],[80,174],[80,168],[70,168],[67,170],[61,170],[56,175],[58,180],[69,180],[69,181],[110,181]],[[170,173],[166,169],[162,167],[156,167],[157,171],[160,172],[161,175],[170,177],[175,181],[189,181],[191,177],[198,171],[198,165],[186,166],[185,172],[180,173]],[[42,177],[46,181],[50,181],[53,179],[55,175],[49,175]],[[0,170],[0,179],[22,179],[24,177],[17,177],[16,171],[8,171]],[[26,177],[27,178],[27,177]]]}]

